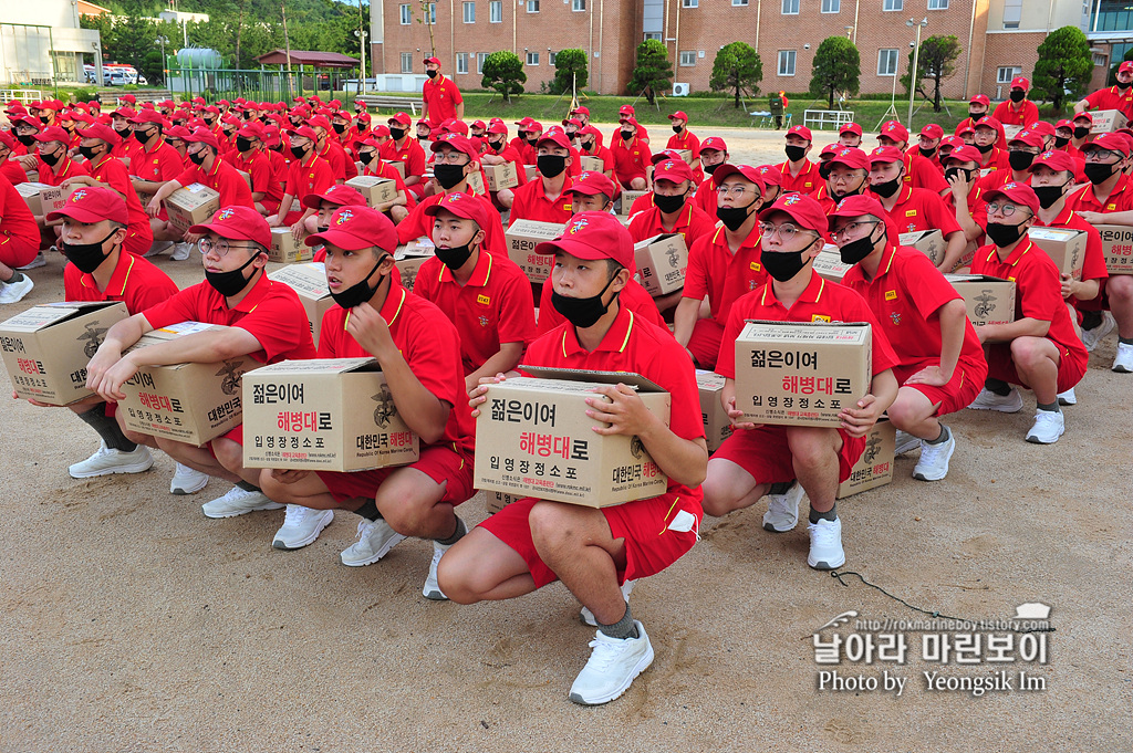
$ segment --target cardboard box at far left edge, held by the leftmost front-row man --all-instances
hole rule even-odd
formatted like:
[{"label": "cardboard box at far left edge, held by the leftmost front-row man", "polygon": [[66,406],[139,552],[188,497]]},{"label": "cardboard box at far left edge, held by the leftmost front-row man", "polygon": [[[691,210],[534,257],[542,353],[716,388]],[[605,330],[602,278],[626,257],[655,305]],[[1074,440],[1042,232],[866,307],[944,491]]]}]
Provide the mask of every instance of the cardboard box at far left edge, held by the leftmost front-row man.
[{"label": "cardboard box at far left edge, held by the leftmost front-row man", "polygon": [[46,303],[0,324],[0,354],[16,394],[52,405],[90,397],[86,365],[128,316],[121,301]]}]

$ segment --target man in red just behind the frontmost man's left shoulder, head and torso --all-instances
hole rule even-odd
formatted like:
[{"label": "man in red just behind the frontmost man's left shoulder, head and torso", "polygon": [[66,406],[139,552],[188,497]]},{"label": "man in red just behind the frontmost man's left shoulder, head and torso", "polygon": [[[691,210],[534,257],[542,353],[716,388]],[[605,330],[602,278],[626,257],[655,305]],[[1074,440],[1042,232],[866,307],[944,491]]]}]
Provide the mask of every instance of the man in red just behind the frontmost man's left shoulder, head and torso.
[{"label": "man in red just behind the frontmost man's left shoulder, head and torso", "polygon": [[465,387],[510,371],[535,339],[535,302],[522,269],[482,248],[489,222],[484,203],[449,194],[425,209],[436,256],[417,273],[414,294],[433,301],[460,332]]}]

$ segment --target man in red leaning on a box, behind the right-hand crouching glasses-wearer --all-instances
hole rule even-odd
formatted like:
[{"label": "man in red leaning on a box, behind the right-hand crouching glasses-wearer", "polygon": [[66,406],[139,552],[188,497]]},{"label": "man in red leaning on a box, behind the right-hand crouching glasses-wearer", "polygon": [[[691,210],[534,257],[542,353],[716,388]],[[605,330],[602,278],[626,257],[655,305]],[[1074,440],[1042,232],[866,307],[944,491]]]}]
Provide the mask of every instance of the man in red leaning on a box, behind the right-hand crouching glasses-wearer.
[{"label": "man in red leaning on a box, behind the right-hand crouching glasses-wearer", "polygon": [[878,197],[897,232],[939,230],[947,247],[937,268],[952,272],[964,253],[966,241],[944,199],[928,189],[913,188],[904,182],[905,164],[900,149],[878,147],[869,156],[869,190]]}]

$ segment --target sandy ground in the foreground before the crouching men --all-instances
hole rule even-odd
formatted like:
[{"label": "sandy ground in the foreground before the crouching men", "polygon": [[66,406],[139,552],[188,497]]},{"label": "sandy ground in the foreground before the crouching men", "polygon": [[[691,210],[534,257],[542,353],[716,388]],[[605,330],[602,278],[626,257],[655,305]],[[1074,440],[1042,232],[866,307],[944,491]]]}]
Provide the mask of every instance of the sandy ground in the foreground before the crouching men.
[{"label": "sandy ground in the foreground before the crouching men", "polygon": [[[782,159],[781,135],[719,134],[738,160]],[[61,300],[60,262],[0,315]],[[196,257],[159,264],[182,286],[202,279]],[[147,473],[75,481],[66,467],[94,434],[63,410],[2,401],[0,751],[1128,750],[1133,376],[1109,371],[1114,349],[1110,335],[1091,356],[1057,445],[1023,442],[1030,395],[1014,416],[965,411],[949,419],[946,481],[914,481],[914,451],[891,486],[842,503],[847,567],[911,604],[974,619],[1053,606],[1046,665],[934,665],[910,632],[903,666],[835,667],[888,669],[908,681],[900,698],[819,690],[811,634],[851,609],[920,615],[809,570],[806,530],[763,531],[761,506],[707,519],[688,556],[638,585],[656,660],[622,699],[587,709],[566,692],[593,632],[561,585],[431,602],[426,542],[343,567],[357,519],[340,513],[313,546],[273,550],[282,511],[205,519],[199,505],[228,486],[173,497],[160,453]],[[460,513],[483,520],[483,496]],[[930,692],[921,675],[1003,668],[1047,688],[973,698]]]}]

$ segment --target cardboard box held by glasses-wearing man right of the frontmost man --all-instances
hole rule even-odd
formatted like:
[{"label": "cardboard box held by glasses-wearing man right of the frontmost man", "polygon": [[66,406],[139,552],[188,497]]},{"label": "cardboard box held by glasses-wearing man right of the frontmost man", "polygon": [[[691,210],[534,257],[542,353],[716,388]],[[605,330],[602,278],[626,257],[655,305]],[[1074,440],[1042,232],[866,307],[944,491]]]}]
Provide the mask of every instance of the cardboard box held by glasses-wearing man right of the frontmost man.
[{"label": "cardboard box held by glasses-wearing man right of the frontmost man", "polygon": [[869,324],[748,322],[735,341],[735,407],[746,421],[837,427],[869,392]]}]

